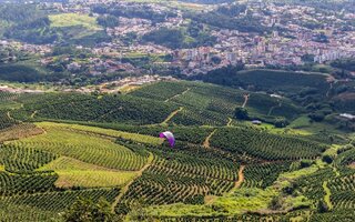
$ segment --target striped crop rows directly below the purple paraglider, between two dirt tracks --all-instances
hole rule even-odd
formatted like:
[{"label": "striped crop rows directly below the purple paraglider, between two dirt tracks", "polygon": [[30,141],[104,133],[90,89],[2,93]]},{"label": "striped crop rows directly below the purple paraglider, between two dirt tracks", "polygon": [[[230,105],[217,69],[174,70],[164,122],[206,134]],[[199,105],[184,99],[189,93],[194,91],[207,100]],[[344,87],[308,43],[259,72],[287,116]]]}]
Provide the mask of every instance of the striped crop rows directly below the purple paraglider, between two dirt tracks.
[{"label": "striped crop rows directly below the purple paraglider, between two dirt tracks", "polygon": [[118,213],[128,213],[136,201],[143,205],[203,204],[205,195],[222,195],[234,186],[237,163],[213,157],[202,148],[200,152],[193,148],[178,149],[150,148],[154,160],[129,186],[115,208]]}]

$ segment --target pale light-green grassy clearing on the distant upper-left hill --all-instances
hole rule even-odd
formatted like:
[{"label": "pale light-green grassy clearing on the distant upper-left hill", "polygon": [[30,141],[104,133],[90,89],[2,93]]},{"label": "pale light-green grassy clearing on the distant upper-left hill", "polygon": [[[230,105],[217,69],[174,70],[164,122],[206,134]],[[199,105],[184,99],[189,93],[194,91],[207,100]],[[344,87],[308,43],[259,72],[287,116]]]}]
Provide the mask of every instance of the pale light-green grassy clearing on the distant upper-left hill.
[{"label": "pale light-green grassy clearing on the distant upper-left hill", "polygon": [[88,30],[100,30],[101,28],[97,23],[94,17],[89,17],[88,14],[79,13],[60,13],[49,16],[51,21],[51,27],[62,28],[62,27],[75,27],[82,26]]}]

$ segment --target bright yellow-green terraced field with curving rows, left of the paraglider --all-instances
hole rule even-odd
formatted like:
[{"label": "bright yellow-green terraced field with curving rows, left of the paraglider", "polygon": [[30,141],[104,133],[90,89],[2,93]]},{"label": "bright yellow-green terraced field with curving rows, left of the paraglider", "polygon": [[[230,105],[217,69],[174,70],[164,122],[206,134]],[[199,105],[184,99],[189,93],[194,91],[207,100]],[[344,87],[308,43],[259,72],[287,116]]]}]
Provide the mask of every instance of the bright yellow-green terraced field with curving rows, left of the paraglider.
[{"label": "bright yellow-green terraced field with curving rows, left of the paraglider", "polygon": [[[138,170],[149,158],[148,152],[134,152],[131,147],[115,143],[116,138],[161,143],[149,135],[75,124],[42,122],[33,129],[41,129],[41,133],[13,138],[19,140],[1,145],[2,220],[60,220],[58,213],[78,196],[113,202],[120,188],[138,176]],[[13,132],[13,128],[9,131]],[[6,211],[13,205],[16,210]],[[28,212],[18,212],[20,210]]]}]

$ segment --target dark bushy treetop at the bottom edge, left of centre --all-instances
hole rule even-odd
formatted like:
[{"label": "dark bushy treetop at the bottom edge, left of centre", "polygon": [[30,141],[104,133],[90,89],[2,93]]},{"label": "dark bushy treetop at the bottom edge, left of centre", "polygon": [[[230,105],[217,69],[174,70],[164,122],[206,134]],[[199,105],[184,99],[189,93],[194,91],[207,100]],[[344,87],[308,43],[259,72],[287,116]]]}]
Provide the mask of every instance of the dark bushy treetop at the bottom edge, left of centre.
[{"label": "dark bushy treetop at the bottom edge, left of centre", "polygon": [[115,214],[111,212],[111,205],[104,199],[97,203],[91,199],[78,198],[78,200],[63,214],[67,222],[111,222]]}]

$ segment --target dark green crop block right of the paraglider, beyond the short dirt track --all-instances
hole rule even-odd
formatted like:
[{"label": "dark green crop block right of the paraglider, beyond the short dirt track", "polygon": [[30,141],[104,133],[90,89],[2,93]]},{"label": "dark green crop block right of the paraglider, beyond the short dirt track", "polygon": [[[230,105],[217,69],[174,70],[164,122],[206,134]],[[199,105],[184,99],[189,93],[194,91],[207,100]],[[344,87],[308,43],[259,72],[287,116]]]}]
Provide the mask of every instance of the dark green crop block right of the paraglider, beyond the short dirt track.
[{"label": "dark green crop block right of the paraglider, beyond the short dirt track", "polygon": [[224,128],[211,138],[211,145],[263,160],[300,160],[318,157],[327,147],[292,135],[244,128]]}]

